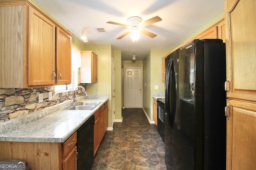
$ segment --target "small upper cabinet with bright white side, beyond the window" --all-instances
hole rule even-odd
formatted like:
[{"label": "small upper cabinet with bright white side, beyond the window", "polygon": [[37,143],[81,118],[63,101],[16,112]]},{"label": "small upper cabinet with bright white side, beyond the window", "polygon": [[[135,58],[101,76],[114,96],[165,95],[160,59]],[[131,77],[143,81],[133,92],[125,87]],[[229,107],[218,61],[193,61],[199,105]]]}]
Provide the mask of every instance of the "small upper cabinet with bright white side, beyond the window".
[{"label": "small upper cabinet with bright white side, beyond the window", "polygon": [[80,83],[97,82],[97,55],[92,51],[81,51]]}]

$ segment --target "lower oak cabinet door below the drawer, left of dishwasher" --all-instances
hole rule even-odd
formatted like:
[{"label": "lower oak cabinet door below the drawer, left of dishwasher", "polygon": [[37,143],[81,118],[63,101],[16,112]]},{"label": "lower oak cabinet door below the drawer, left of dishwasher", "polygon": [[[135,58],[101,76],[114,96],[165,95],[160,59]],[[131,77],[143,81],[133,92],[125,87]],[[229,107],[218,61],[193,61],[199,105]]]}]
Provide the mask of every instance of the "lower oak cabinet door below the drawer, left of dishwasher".
[{"label": "lower oak cabinet door below the drawer, left of dishwasher", "polygon": [[76,147],[64,158],[63,170],[77,170],[77,152]]}]

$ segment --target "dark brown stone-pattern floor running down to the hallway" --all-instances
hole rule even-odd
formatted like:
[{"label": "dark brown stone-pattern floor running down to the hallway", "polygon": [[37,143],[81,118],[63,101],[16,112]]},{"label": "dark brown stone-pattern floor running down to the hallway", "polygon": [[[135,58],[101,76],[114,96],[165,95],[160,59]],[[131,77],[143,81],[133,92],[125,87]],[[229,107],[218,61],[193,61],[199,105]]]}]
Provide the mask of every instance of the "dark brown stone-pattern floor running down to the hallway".
[{"label": "dark brown stone-pattern floor running down to the hallway", "polygon": [[106,131],[91,170],[166,170],[164,142],[142,109],[122,109],[123,122]]}]

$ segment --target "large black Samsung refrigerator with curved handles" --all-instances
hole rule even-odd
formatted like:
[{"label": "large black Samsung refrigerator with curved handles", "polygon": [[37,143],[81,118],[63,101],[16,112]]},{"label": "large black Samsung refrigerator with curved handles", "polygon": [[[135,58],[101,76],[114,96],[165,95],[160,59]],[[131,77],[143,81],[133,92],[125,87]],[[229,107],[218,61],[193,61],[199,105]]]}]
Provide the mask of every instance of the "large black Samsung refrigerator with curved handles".
[{"label": "large black Samsung refrigerator with curved handles", "polygon": [[167,169],[225,170],[225,43],[195,39],[168,55],[165,64]]}]

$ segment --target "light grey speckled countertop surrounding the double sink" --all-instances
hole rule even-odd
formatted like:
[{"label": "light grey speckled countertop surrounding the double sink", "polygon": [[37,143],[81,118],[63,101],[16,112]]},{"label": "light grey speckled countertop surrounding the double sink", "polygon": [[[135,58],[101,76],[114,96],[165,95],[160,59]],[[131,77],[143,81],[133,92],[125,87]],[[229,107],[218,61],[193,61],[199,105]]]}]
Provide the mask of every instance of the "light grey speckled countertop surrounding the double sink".
[{"label": "light grey speckled countertop surrounding the double sink", "polygon": [[[84,99],[80,102],[101,103],[93,110],[67,110],[62,108],[26,123],[24,123],[24,120],[18,121],[18,123],[9,120],[6,121],[8,122],[7,125],[0,123],[0,128],[6,129],[6,131],[0,132],[0,141],[63,143],[106,101],[108,101],[108,98]],[[16,128],[8,127],[13,123],[16,124]]]}]

